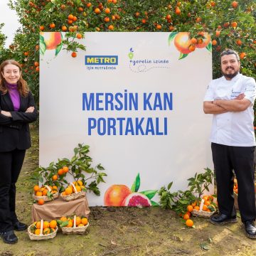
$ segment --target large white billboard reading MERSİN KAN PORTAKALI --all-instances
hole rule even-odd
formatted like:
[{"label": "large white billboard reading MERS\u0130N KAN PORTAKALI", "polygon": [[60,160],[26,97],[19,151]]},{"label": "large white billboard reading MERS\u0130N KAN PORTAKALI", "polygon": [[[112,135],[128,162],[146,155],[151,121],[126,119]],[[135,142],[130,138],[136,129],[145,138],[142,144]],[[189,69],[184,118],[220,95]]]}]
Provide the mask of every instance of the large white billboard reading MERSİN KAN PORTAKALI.
[{"label": "large white billboard reading MERS\u0130N KAN PORTAKALI", "polygon": [[[41,36],[49,41],[53,33]],[[128,187],[130,194],[138,174],[137,192],[170,181],[175,191],[211,168],[211,117],[203,113],[212,78],[210,39],[191,51],[187,37],[185,32],[85,33],[86,51],[76,58],[60,49],[55,56],[54,46],[45,50],[39,164],[72,156],[78,143],[90,145],[93,163],[107,173],[101,196],[87,195],[90,206],[107,205],[110,187],[117,192]],[[61,40],[60,33],[55,38]],[[157,194],[150,197],[149,205],[158,201]]]}]

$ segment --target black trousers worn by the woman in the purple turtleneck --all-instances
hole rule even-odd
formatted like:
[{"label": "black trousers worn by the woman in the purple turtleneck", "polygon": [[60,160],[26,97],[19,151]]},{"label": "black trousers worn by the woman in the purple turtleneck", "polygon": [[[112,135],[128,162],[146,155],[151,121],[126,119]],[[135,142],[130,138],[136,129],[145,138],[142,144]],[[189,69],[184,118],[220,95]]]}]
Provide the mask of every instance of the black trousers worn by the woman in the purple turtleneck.
[{"label": "black trousers worn by the woman in the purple turtleneck", "polygon": [[15,196],[18,175],[26,150],[0,152],[0,232],[13,229],[18,219],[15,213]]}]

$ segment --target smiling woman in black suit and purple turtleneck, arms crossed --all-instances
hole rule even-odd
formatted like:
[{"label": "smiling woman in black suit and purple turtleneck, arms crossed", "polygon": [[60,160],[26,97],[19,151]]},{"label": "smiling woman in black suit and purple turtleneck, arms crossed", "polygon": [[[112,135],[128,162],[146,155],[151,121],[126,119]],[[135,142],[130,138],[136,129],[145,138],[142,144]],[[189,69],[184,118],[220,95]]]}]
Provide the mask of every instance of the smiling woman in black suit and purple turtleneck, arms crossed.
[{"label": "smiling woman in black suit and purple turtleneck, arms crossed", "polygon": [[5,60],[0,72],[0,235],[11,244],[18,242],[14,230],[27,228],[15,213],[15,183],[31,146],[28,123],[36,120],[37,111],[21,65]]}]

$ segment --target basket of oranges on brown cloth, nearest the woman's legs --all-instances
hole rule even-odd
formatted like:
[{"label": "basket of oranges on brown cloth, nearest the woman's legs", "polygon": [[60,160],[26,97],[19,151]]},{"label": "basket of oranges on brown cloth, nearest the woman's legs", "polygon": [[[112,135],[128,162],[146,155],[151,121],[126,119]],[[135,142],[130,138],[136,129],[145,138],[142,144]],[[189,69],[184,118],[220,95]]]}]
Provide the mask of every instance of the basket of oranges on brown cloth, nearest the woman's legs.
[{"label": "basket of oranges on brown cloth, nearest the woman's legs", "polygon": [[57,186],[40,186],[36,185],[33,187],[33,199],[39,201],[43,199],[43,201],[52,201],[58,198],[58,188]]}]

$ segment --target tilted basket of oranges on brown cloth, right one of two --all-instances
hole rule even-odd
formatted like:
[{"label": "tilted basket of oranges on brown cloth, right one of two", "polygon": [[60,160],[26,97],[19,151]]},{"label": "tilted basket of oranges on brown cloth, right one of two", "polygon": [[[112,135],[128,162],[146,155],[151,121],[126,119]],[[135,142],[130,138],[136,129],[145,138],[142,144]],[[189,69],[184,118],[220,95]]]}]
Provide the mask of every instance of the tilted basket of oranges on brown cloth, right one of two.
[{"label": "tilted basket of oranges on brown cloth, right one of two", "polygon": [[86,188],[83,186],[82,181],[73,181],[73,183],[70,183],[70,186],[65,188],[65,191],[60,194],[60,197],[65,201],[73,201],[77,198],[84,197],[85,191]]}]

